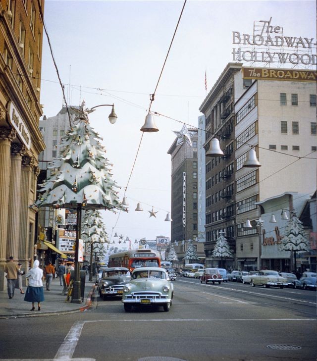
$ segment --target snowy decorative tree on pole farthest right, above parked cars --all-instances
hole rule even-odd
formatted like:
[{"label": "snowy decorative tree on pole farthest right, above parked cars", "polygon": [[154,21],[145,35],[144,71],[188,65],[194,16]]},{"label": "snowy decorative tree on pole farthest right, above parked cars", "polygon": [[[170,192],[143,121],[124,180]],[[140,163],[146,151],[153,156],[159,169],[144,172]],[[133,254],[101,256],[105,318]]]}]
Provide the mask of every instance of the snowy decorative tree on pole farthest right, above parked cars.
[{"label": "snowy decorative tree on pole farthest right, above parked cars", "polygon": [[305,234],[303,222],[300,221],[294,210],[290,211],[290,219],[288,220],[281,243],[279,244],[281,251],[294,252],[294,271],[296,272],[296,252],[309,251],[310,243]]}]

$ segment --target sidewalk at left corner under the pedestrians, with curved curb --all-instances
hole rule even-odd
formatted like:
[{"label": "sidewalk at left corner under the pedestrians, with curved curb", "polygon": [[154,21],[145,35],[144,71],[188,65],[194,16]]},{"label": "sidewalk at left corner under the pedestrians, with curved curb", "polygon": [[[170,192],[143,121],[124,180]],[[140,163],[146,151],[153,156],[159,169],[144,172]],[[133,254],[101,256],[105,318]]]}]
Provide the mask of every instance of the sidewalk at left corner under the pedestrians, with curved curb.
[{"label": "sidewalk at left corner under the pedestrians, with curved curb", "polygon": [[[95,291],[95,282],[85,282],[84,302],[81,304],[72,304],[65,302],[67,296],[62,296],[63,287],[59,285],[59,278],[55,278],[51,284],[51,290],[47,291],[44,284],[44,299],[41,303],[41,311],[37,310],[37,303],[35,303],[35,310],[32,308],[31,302],[24,301],[24,295],[21,295],[19,289],[14,290],[14,297],[9,299],[6,285],[5,291],[0,291],[0,318],[17,318],[17,317],[35,317],[35,316],[49,316],[53,314],[83,312],[92,305],[93,295]],[[23,287],[26,292],[26,287]]]}]

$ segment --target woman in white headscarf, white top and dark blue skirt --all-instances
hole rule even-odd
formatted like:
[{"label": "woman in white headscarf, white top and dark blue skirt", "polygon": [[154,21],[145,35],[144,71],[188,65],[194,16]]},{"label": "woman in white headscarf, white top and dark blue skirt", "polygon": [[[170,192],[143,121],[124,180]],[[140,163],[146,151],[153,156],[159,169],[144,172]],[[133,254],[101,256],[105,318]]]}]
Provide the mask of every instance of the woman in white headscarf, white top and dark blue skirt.
[{"label": "woman in white headscarf, white top and dark blue skirt", "polygon": [[32,302],[32,309],[34,311],[34,303],[38,303],[38,311],[41,310],[41,302],[44,301],[43,291],[43,270],[39,268],[40,262],[36,259],[33,263],[33,267],[26,274],[26,278],[29,280],[28,288],[25,292],[24,301]]}]

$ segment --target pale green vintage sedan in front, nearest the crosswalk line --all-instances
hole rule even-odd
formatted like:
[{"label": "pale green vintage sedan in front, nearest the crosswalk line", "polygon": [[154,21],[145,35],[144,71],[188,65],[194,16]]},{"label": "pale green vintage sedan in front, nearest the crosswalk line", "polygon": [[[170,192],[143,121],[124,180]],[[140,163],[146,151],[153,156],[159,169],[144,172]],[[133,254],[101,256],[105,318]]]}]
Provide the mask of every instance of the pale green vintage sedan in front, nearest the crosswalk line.
[{"label": "pale green vintage sedan in front, nearest the crosswalk line", "polygon": [[141,267],[132,272],[131,281],[124,285],[122,303],[126,312],[132,306],[162,306],[169,311],[174,286],[165,268]]}]

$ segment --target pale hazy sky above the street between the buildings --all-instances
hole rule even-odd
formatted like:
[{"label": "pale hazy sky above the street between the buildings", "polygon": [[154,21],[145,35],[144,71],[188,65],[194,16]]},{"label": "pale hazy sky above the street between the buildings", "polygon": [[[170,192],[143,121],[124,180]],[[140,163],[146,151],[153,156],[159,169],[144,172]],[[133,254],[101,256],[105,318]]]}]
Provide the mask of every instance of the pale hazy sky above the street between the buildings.
[{"label": "pale hazy sky above the street between the buildings", "polygon": [[[85,100],[88,108],[114,103],[89,114],[113,163],[113,179],[124,189],[129,212],[102,211],[108,235],[132,240],[170,237],[171,158],[168,149],[183,122],[196,127],[200,105],[232,61],[232,32],[252,34],[254,21],[283,26],[285,36],[315,38],[316,1],[190,1],[185,4],[160,80],[184,1],[46,0],[44,20],[68,105]],[[316,52],[315,52],[316,53]],[[248,64],[245,64],[248,66]],[[159,128],[144,133],[151,110]],[[43,114],[63,105],[47,37],[43,38],[41,103]],[[138,150],[139,149],[139,150]],[[138,152],[138,154],[137,154]],[[129,180],[130,179],[130,180]],[[140,202],[144,211],[135,211]],[[154,207],[156,217],[150,217]]]}]

